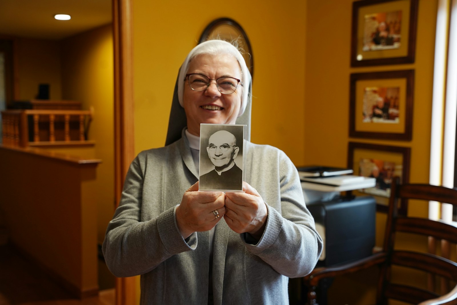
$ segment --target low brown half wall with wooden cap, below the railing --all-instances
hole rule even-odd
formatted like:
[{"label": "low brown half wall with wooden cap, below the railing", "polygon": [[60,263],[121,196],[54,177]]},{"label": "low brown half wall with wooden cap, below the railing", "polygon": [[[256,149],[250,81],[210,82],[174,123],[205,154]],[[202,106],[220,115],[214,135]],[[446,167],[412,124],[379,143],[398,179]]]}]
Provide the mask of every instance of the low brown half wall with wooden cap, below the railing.
[{"label": "low brown half wall with wooden cap, below the railing", "polygon": [[76,296],[98,292],[96,206],[86,200],[96,166],[0,147],[9,239]]}]

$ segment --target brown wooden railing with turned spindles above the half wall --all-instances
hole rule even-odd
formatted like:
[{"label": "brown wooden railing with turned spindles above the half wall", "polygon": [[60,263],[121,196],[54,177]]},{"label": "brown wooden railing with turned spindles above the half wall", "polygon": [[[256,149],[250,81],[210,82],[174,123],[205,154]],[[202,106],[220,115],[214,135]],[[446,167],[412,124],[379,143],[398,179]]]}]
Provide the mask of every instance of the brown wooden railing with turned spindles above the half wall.
[{"label": "brown wooden railing with turned spindles above the half wall", "polygon": [[92,110],[6,110],[2,142],[11,146],[81,145],[87,140]]}]

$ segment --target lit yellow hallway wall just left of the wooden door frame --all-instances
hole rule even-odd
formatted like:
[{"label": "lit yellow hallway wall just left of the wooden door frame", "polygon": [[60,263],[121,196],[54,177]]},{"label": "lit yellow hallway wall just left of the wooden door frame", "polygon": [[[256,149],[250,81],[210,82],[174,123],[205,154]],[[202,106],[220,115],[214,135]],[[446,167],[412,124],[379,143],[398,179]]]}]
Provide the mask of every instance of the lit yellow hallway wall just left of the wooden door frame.
[{"label": "lit yellow hallway wall just left of the wooden door frame", "polygon": [[[97,205],[97,241],[101,244],[114,209],[112,27],[98,27],[61,43],[63,98],[82,102],[85,110],[94,107],[89,139],[96,144],[91,157],[102,163],[97,167],[96,188],[88,200]],[[86,156],[84,149],[80,153]]]}]

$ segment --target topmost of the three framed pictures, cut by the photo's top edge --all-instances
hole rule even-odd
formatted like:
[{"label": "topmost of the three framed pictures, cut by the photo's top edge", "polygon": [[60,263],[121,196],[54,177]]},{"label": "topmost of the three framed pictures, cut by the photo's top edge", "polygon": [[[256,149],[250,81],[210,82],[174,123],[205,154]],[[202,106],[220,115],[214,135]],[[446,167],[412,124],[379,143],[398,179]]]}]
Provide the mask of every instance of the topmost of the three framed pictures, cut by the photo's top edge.
[{"label": "topmost of the three framed pictures, cut by the photo's top edge", "polygon": [[414,63],[418,0],[352,4],[351,66]]}]

